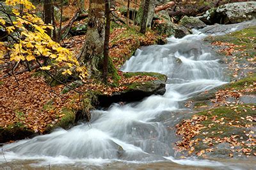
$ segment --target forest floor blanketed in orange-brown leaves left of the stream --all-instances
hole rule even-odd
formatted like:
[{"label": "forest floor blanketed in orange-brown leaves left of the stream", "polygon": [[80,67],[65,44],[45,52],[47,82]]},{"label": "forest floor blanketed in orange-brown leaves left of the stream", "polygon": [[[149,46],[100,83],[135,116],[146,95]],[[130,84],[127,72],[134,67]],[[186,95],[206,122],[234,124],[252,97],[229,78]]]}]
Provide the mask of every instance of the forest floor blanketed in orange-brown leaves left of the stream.
[{"label": "forest floor blanketed in orange-brown leaves left of the stream", "polygon": [[[75,12],[76,9],[65,6],[63,15],[73,16]],[[118,15],[125,20],[120,13]],[[69,20],[63,24],[68,24]],[[86,18],[75,24],[86,24]],[[159,36],[151,30],[145,35],[138,31],[138,26],[131,27],[118,22],[111,24],[109,55],[116,69],[119,69],[140,46],[153,45],[159,39],[165,39],[164,36]],[[69,43],[69,50],[76,56],[83,47],[85,39],[85,35],[69,36],[63,39],[63,45]],[[111,95],[113,92],[127,89],[129,83],[156,80],[154,76],[147,75],[127,78],[121,71],[117,71],[117,83],[113,77],[109,77],[108,85],[90,78],[83,82],[83,86],[76,89],[82,92],[81,94],[74,90],[63,93],[65,85],[52,87],[45,81],[45,74],[40,69],[13,75],[24,70],[25,67],[19,64],[13,73],[4,64],[1,67],[3,69],[0,70],[0,138],[7,138],[12,134],[7,141],[25,138],[28,136],[26,134],[44,134],[56,126],[69,127],[70,123],[74,123],[76,111],[84,108],[84,104],[86,104],[86,112],[94,107],[92,103],[95,96],[92,92]],[[20,133],[20,129],[28,133],[24,133],[25,136],[17,134]],[[0,140],[0,143],[1,141],[6,139]]]}]

